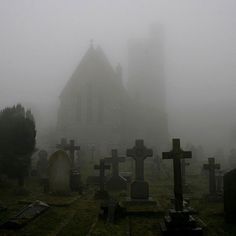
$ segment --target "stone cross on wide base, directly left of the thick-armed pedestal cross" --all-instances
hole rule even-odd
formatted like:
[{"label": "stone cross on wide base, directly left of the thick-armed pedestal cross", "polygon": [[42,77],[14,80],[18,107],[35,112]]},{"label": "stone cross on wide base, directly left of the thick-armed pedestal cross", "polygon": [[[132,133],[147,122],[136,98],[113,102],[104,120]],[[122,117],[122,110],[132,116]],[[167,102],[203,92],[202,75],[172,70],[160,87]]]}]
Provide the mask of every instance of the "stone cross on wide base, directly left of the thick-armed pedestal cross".
[{"label": "stone cross on wide base, directly left of the thick-armed pedestal cross", "polygon": [[104,160],[112,166],[112,175],[106,182],[107,189],[115,191],[126,190],[127,180],[119,175],[119,162],[124,162],[125,157],[119,157],[117,150],[113,149],[111,151],[111,157],[107,157]]}]

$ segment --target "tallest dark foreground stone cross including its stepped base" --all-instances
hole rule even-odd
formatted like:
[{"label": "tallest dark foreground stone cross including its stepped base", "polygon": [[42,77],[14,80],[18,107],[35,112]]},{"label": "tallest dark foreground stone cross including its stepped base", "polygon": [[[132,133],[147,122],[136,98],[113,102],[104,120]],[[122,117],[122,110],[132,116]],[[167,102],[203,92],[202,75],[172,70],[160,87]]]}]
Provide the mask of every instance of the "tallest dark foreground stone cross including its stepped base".
[{"label": "tallest dark foreground stone cross including its stepped base", "polygon": [[163,152],[163,159],[173,159],[174,168],[174,209],[169,210],[169,215],[161,223],[161,231],[164,236],[184,235],[202,236],[203,230],[197,225],[196,220],[183,205],[183,186],[181,160],[192,158],[192,153],[183,151],[180,147],[180,140],[173,139],[173,146],[170,152]]}]

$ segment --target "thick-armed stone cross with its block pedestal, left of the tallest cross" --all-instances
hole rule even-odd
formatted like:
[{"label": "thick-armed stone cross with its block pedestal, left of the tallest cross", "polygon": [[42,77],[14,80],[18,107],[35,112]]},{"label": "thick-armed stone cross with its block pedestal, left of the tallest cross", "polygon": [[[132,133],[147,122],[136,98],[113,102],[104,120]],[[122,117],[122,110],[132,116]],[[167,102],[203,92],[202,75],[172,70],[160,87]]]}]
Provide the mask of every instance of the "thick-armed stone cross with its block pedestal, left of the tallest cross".
[{"label": "thick-armed stone cross with its block pedestal, left of the tallest cross", "polygon": [[135,180],[131,183],[131,201],[155,202],[149,198],[149,185],[144,180],[144,160],[151,157],[153,151],[144,146],[143,140],[136,140],[135,146],[127,150],[127,156],[135,160]]}]

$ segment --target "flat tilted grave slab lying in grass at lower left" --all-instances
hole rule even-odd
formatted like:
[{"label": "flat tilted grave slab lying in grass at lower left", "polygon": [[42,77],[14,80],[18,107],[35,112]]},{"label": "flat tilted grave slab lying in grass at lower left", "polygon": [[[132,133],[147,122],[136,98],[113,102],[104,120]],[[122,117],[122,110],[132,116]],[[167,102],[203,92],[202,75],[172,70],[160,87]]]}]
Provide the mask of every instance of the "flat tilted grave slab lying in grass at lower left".
[{"label": "flat tilted grave slab lying in grass at lower left", "polygon": [[19,229],[25,226],[27,223],[41,215],[48,210],[49,205],[41,201],[35,201],[34,203],[22,208],[14,217],[3,223],[0,228],[2,229]]}]

